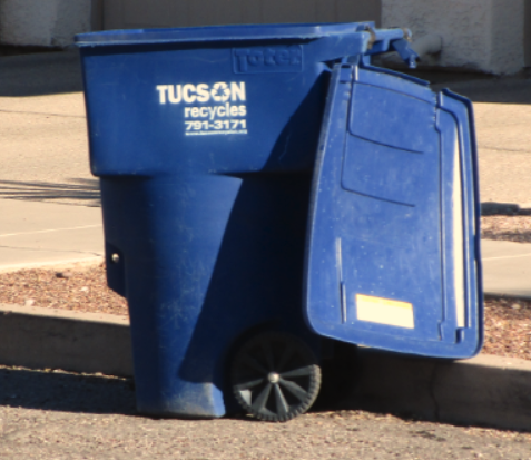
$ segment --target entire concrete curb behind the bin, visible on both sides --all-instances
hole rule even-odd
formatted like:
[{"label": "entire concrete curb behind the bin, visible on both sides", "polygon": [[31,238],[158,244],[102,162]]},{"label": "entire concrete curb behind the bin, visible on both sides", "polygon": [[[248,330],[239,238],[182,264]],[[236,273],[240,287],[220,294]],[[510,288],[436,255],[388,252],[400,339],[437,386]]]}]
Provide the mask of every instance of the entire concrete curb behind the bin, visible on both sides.
[{"label": "entire concrete curb behind the bin, visible on both sides", "polygon": [[[0,363],[132,375],[129,321],[0,304]],[[480,354],[443,361],[360,349],[361,380],[344,401],[459,424],[529,430],[531,361]]]}]

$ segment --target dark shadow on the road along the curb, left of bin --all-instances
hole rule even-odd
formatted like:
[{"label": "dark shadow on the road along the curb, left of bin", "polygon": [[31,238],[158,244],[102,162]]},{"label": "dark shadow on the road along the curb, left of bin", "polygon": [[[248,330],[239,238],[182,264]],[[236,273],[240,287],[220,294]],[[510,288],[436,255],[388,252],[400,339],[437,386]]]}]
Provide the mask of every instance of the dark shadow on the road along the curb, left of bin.
[{"label": "dark shadow on the road along the curb, left of bin", "polygon": [[0,405],[135,414],[132,379],[0,368]]}]

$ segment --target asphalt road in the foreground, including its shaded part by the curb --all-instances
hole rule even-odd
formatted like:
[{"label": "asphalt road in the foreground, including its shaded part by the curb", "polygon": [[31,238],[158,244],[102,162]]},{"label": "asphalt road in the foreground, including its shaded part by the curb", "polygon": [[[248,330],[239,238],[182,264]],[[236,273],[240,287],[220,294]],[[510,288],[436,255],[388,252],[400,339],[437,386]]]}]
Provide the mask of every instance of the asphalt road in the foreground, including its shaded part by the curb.
[{"label": "asphalt road in the foreground, including its shaded part by the curb", "polygon": [[531,434],[355,409],[288,423],[156,420],[135,413],[129,380],[0,368],[0,458],[531,459]]}]

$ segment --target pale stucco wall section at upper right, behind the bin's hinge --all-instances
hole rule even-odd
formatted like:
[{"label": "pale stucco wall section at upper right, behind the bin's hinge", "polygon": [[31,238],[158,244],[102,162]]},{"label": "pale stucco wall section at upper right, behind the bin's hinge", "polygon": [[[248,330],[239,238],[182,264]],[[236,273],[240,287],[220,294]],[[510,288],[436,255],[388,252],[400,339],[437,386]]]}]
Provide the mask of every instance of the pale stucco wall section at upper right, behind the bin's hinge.
[{"label": "pale stucco wall section at upper right, behind the bin's hinge", "polygon": [[524,67],[529,0],[382,0],[383,27],[407,27],[415,37],[442,37],[435,66],[492,74]]}]

